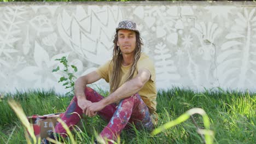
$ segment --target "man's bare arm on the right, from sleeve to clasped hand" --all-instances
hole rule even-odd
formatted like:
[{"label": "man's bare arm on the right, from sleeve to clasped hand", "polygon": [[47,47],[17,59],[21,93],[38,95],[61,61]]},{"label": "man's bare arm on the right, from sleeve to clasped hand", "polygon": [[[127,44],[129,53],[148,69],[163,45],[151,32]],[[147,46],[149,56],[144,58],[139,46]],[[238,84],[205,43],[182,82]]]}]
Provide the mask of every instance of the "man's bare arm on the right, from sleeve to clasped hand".
[{"label": "man's bare arm on the right, from sleeve to clasped hand", "polygon": [[108,95],[108,97],[102,99],[101,101],[98,101],[97,103],[89,104],[86,110],[86,115],[94,116],[96,115],[95,112],[102,110],[105,106],[115,103],[116,101],[119,101],[121,99],[130,97],[131,95],[137,93],[149,79],[149,70],[139,70],[138,75],[135,78],[125,82],[116,91]]}]

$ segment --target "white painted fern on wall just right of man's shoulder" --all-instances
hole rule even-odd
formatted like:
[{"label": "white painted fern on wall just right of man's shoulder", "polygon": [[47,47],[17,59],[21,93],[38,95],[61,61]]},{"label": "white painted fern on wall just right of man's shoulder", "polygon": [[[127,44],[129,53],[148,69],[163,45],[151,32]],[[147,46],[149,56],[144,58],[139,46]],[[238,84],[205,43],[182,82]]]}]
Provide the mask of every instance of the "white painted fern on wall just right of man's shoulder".
[{"label": "white painted fern on wall just right of man's shoulder", "polygon": [[177,67],[171,60],[170,49],[166,48],[166,45],[160,43],[155,46],[155,67],[157,69],[156,75],[157,83],[159,87],[165,88],[168,86],[175,85],[175,81],[181,79],[181,76],[177,74]]}]

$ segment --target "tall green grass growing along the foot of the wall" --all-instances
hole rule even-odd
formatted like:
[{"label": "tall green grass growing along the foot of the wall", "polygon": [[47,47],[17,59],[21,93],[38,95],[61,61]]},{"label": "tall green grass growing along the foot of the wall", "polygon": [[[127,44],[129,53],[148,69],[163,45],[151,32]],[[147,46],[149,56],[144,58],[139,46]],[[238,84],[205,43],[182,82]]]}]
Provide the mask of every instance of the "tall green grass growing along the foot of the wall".
[{"label": "tall green grass growing along the foot of the wall", "polygon": [[[106,92],[98,92],[107,95]],[[26,143],[24,129],[7,101],[14,99],[21,104],[27,116],[34,114],[64,112],[72,97],[63,97],[53,90],[33,90],[16,93],[5,93],[0,101],[0,143]],[[157,98],[159,124],[181,116],[194,107],[207,113],[214,132],[214,143],[256,143],[256,93],[206,89],[195,92],[191,89],[171,88],[159,91]],[[199,127],[203,127],[201,115],[193,115]],[[75,141],[88,143],[95,139],[94,130],[98,133],[107,125],[100,117],[83,121],[82,133],[73,131]],[[202,143],[200,134],[191,118],[161,133],[150,136],[147,131],[124,130],[121,143]],[[66,143],[69,143],[68,140]]]}]

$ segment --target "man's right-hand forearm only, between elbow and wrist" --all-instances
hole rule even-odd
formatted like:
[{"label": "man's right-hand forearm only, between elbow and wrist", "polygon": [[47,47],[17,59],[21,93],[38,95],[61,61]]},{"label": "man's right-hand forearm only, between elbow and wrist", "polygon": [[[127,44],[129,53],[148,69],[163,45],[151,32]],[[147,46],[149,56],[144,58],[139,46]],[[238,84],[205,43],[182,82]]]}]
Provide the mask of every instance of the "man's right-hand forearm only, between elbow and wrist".
[{"label": "man's right-hand forearm only, between elbow and wrist", "polygon": [[101,102],[103,105],[115,103],[116,101],[120,101],[121,99],[130,97],[131,95],[137,93],[142,87],[142,82],[140,82],[138,79],[132,79],[125,82],[116,91],[108,95],[108,97],[102,99]]}]

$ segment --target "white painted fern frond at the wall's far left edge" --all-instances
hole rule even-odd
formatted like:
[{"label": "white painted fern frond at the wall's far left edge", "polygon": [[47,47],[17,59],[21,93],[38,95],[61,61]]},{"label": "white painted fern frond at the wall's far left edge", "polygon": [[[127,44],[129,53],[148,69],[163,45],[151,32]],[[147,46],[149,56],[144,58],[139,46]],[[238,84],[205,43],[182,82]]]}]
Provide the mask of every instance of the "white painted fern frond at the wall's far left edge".
[{"label": "white painted fern frond at the wall's far left edge", "polygon": [[[22,15],[25,13],[24,7],[5,7],[0,21],[0,65],[10,67],[10,64],[5,59],[13,59],[11,53],[18,52],[14,47],[14,43],[21,39],[17,35],[21,32],[19,25],[24,22]],[[0,72],[0,77],[5,76]]]}]

